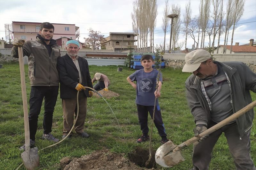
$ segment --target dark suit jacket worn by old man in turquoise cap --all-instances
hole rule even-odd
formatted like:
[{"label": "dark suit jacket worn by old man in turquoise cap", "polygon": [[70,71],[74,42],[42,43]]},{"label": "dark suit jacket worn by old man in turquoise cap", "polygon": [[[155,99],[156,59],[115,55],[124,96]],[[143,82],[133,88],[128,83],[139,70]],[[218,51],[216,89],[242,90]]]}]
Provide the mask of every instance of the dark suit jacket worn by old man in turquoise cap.
[{"label": "dark suit jacket worn by old man in turquoise cap", "polygon": [[[92,88],[92,79],[90,76],[87,60],[78,56],[78,63],[82,76],[82,85]],[[60,77],[60,98],[76,98],[76,85],[79,83],[79,73],[76,65],[68,54],[58,57],[57,70]],[[89,90],[92,91],[91,89]],[[88,88],[82,92],[84,92],[85,95],[89,97]]]}]

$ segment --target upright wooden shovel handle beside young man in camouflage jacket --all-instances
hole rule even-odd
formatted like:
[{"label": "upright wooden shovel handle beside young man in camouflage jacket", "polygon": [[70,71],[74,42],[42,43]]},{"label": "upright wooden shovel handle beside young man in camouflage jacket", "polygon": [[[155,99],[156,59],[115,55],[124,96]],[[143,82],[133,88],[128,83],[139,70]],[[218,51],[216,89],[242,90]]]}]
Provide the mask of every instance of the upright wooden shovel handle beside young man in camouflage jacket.
[{"label": "upright wooden shovel handle beside young man in camouflage jacket", "polygon": [[18,47],[18,52],[19,52],[19,63],[20,63],[21,93],[22,93],[23,112],[24,112],[25,147],[26,147],[26,151],[27,151],[30,149],[30,147],[29,147],[29,125],[28,125],[28,103],[27,103],[27,92],[26,92],[22,47]]}]

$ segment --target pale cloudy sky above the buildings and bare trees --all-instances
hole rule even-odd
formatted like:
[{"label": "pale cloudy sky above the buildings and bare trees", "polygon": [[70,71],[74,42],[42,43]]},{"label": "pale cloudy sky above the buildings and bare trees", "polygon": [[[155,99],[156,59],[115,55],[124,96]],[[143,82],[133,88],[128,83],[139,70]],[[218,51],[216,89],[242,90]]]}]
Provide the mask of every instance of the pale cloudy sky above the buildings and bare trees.
[{"label": "pale cloudy sky above the buildings and bare trees", "polygon": [[[164,41],[161,27],[164,1],[157,0],[155,44]],[[182,19],[186,2],[188,0],[169,0],[170,6],[180,4]],[[81,42],[84,42],[83,38],[87,37],[89,28],[100,31],[105,37],[109,36],[109,32],[132,32],[132,3],[133,0],[0,0],[0,38],[4,37],[5,40],[4,24],[11,24],[12,21],[76,24],[80,27],[79,41]],[[223,11],[226,11],[226,3],[227,0],[224,0]],[[199,14],[199,4],[200,0],[191,0],[192,16]],[[240,42],[242,45],[249,43],[249,39],[256,39],[256,0],[245,1],[244,15],[238,23],[244,24],[239,24],[235,30],[233,45],[235,42]],[[185,38],[180,34],[179,41],[183,40]],[[220,40],[220,44],[223,44],[224,35]],[[231,36],[229,44],[230,40]],[[166,41],[170,41],[170,32],[166,34]],[[205,41],[207,45],[209,39],[206,37]],[[216,40],[215,42],[217,44]],[[188,37],[188,48],[191,48],[192,44],[193,40]]]}]

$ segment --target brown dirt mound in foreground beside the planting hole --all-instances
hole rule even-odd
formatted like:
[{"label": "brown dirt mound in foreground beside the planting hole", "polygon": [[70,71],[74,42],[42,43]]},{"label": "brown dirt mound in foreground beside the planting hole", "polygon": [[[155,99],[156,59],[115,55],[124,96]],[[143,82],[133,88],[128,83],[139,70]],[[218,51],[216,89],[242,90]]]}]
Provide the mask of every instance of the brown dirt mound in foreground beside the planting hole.
[{"label": "brown dirt mound in foreground beside the planting hole", "polygon": [[[121,169],[121,170],[143,170],[136,166],[130,160],[125,159],[123,155],[118,153],[111,153],[107,149],[92,152],[90,155],[82,156],[81,158],[74,158],[71,162],[68,159],[60,161],[60,166],[64,170],[75,169],[95,169],[95,170],[109,170],[109,169]],[[66,163],[66,165],[64,165]],[[154,168],[152,168],[154,169]]]}]

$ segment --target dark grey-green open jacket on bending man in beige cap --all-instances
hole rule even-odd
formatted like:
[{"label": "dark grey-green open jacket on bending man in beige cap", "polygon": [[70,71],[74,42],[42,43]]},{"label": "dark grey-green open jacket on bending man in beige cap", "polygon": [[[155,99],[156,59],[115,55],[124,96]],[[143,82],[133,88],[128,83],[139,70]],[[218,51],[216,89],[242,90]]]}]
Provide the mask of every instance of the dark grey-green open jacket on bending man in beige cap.
[{"label": "dark grey-green open jacket on bending man in beige cap", "polygon": [[[250,90],[256,92],[256,74],[244,63],[218,63],[230,80],[231,105],[233,112],[236,113],[252,102]],[[211,120],[210,109],[203,95],[200,81],[193,74],[186,80],[188,106],[195,118],[195,122],[209,123]],[[253,117],[254,112],[251,109],[236,119],[237,130],[241,137],[252,128]]]}]

